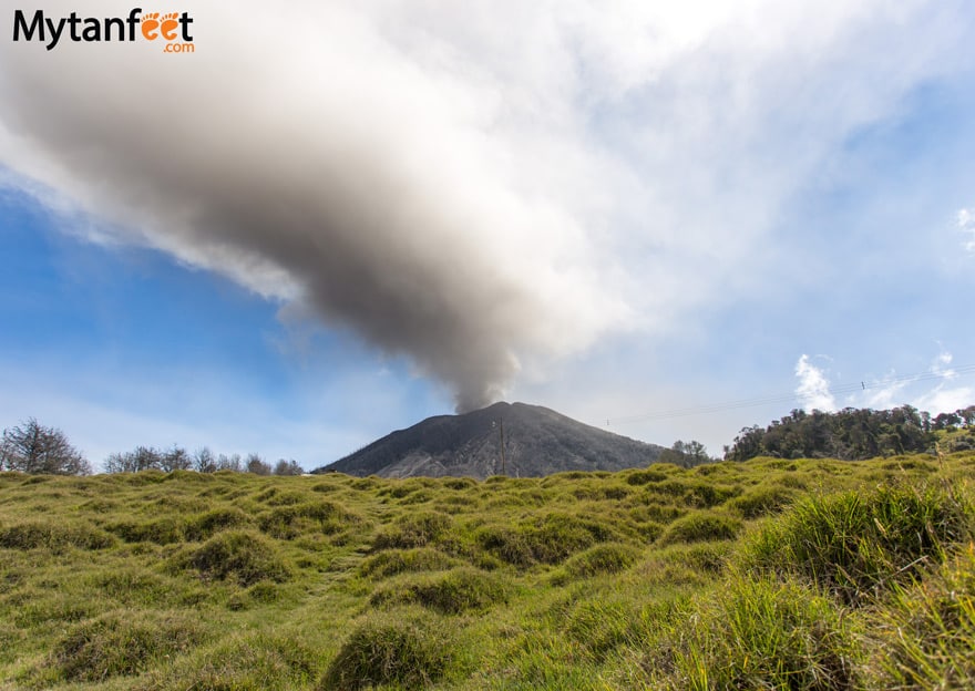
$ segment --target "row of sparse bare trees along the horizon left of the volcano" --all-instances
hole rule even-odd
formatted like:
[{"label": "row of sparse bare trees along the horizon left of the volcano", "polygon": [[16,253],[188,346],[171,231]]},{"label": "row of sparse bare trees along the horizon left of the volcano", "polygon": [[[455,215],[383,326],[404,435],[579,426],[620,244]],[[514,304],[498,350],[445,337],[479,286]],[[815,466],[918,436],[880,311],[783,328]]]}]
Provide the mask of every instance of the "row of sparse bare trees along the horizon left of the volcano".
[{"label": "row of sparse bare trees along the horizon left of the volcano", "polygon": [[[136,446],[132,451],[110,454],[105,460],[106,473],[138,473],[141,471],[196,471],[216,473],[254,473],[256,475],[301,475],[305,471],[297,461],[280,458],[271,465],[258,454],[214,454],[204,446],[193,453],[181,446],[161,450]],[[90,475],[92,466],[61,430],[48,427],[31,417],[14,427],[3,430],[0,437],[0,471],[31,475]]]}]

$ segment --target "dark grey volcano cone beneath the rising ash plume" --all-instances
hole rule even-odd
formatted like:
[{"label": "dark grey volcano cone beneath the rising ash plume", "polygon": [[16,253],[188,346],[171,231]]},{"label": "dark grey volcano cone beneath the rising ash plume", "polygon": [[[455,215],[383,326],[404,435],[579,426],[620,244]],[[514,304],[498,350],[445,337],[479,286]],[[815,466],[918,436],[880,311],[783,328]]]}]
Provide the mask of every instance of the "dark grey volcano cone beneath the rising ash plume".
[{"label": "dark grey volcano cone beneath the rising ash plume", "polygon": [[[502,426],[504,468],[502,468]],[[495,403],[429,417],[314,471],[381,477],[540,477],[564,471],[619,471],[657,460],[661,446],[583,424],[553,410]]]}]

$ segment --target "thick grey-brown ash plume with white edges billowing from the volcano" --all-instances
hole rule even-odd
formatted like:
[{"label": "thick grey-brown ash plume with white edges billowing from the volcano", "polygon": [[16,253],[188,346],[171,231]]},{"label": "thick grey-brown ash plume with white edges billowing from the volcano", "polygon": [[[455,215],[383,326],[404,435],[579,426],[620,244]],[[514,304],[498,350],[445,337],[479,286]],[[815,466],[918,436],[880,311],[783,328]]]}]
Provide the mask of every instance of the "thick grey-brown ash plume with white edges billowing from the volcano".
[{"label": "thick grey-brown ash plume with white edges billowing from the volcano", "polygon": [[103,219],[99,234],[409,357],[459,410],[499,399],[520,357],[622,321],[577,215],[499,135],[490,75],[340,4],[199,4],[178,8],[189,55],[4,40],[0,151],[17,179]]}]

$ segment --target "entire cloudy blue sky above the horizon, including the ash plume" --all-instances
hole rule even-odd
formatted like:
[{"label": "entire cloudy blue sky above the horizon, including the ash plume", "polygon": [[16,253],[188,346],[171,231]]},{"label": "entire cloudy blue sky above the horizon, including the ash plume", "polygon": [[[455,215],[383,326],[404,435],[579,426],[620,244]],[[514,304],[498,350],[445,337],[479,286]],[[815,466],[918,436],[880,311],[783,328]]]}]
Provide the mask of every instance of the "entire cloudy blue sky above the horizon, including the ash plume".
[{"label": "entire cloudy blue sky above the horizon, including the ash plume", "polygon": [[0,426],[312,468],[499,398],[715,454],[975,403],[971,6],[184,4],[194,54],[0,45]]}]

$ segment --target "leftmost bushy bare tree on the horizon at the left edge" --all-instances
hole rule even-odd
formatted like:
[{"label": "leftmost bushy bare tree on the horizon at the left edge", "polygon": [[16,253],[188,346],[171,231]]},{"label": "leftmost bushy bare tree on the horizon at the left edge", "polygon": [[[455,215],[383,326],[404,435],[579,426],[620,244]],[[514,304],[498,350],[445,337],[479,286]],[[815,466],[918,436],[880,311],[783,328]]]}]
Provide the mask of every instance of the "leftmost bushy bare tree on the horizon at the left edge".
[{"label": "leftmost bushy bare tree on the horizon at the left edge", "polygon": [[91,465],[60,430],[45,427],[31,417],[3,430],[0,470],[32,475],[89,475]]}]

